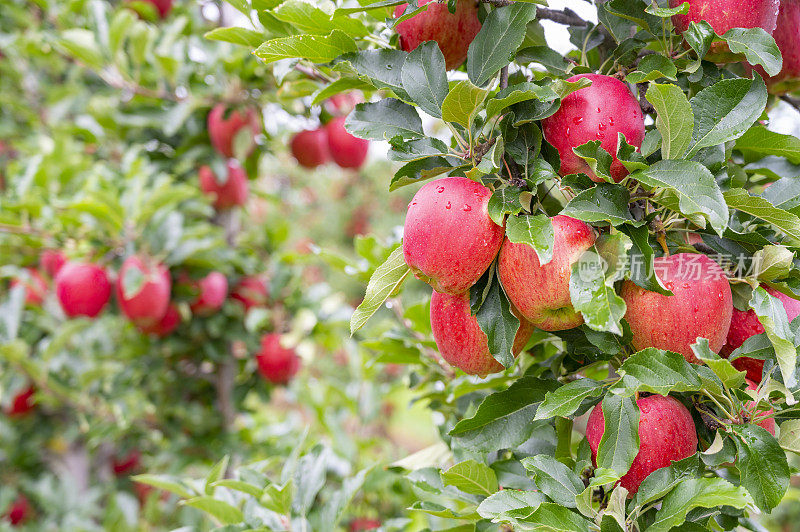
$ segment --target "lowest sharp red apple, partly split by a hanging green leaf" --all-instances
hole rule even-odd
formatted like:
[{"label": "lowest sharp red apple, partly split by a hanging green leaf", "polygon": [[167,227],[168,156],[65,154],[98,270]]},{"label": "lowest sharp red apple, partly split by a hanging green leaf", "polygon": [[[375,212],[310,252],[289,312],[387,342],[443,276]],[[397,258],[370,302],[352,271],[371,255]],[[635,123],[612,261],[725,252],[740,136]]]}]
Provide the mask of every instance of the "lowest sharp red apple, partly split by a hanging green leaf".
[{"label": "lowest sharp red apple, partly split by a hanging green leaf", "polygon": [[[692,456],[697,451],[697,429],[692,415],[674,397],[650,395],[641,397],[639,406],[639,452],[631,468],[619,484],[628,496],[639,491],[642,481],[657,469]],[[605,431],[603,405],[598,403],[586,424],[586,439],[592,451],[592,463],[597,466],[597,449]]]}]

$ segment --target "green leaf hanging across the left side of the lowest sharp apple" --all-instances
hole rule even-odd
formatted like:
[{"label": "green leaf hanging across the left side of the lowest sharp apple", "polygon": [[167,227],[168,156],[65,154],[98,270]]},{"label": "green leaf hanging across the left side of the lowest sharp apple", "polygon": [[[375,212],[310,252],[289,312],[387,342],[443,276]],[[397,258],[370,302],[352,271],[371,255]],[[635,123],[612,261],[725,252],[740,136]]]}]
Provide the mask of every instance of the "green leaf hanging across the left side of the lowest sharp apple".
[{"label": "green leaf hanging across the left side of the lowest sharp apple", "polygon": [[597,467],[623,476],[639,453],[639,407],[630,397],[603,397],[605,429],[597,449]]}]

